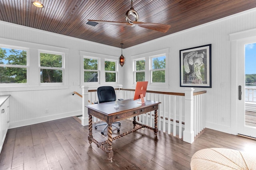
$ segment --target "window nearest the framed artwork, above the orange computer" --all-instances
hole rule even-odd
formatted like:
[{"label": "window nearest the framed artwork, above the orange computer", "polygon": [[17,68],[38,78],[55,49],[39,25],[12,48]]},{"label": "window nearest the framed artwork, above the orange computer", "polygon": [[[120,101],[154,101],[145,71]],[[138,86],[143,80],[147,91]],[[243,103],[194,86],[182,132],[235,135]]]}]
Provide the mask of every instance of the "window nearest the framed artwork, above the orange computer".
[{"label": "window nearest the framed artwork, above the orange computer", "polygon": [[165,82],[165,56],[151,58],[151,82]]}]

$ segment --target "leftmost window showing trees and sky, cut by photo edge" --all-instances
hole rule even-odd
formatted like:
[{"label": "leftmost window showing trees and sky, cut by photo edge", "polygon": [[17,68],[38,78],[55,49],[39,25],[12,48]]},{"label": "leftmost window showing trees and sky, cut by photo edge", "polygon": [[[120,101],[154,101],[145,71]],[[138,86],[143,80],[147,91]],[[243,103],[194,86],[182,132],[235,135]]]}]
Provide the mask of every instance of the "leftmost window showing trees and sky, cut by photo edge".
[{"label": "leftmost window showing trees and sky, cut by photo edge", "polygon": [[0,48],[0,83],[27,83],[27,51]]}]

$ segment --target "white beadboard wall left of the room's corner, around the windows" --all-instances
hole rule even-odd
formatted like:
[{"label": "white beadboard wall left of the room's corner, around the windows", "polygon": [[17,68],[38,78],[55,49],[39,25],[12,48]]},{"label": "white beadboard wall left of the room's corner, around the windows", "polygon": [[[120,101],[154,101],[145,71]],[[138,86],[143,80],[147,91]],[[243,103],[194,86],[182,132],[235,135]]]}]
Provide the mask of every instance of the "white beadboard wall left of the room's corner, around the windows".
[{"label": "white beadboard wall left of the room's corner, around the windows", "polygon": [[[0,85],[0,95],[10,94],[10,128],[29,125],[33,123],[70,117],[82,114],[82,98],[77,95],[72,96],[74,91],[82,94],[80,85],[81,76],[81,56],[80,52],[96,53],[102,56],[112,56],[118,59],[121,49],[84,41],[72,37],[58,35],[47,31],[32,29],[21,25],[0,21],[0,44],[27,47],[30,50],[30,67],[37,66],[38,53],[32,53],[37,49],[56,49],[67,51],[65,58],[65,74],[68,75],[64,86],[42,87],[28,85],[27,87],[7,87]],[[32,59],[33,58],[33,59]],[[122,80],[122,69],[119,77]],[[122,83],[122,82],[118,82]],[[116,83],[117,84],[117,83]],[[113,84],[114,86],[115,84]],[[45,109],[49,113],[45,113]]]}]

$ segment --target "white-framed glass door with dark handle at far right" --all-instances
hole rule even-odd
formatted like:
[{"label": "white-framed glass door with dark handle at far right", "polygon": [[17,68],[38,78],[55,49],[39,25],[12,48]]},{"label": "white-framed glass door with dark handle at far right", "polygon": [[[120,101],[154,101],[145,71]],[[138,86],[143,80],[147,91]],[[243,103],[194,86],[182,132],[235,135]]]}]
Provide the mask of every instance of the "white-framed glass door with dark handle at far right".
[{"label": "white-framed glass door with dark handle at far right", "polygon": [[256,40],[238,43],[238,134],[256,138]]}]

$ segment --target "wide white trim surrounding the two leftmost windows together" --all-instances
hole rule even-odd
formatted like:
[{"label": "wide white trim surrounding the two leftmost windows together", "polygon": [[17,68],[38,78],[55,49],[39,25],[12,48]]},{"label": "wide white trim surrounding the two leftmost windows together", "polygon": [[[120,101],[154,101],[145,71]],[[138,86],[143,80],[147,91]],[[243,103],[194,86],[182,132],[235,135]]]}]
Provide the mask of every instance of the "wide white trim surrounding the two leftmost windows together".
[{"label": "wide white trim surrounding the two leftmost windows together", "polygon": [[[27,84],[0,84],[1,92],[19,92],[27,90],[55,90],[55,89],[68,89],[68,74],[65,74],[65,82],[63,85],[51,85],[51,86],[41,86],[39,84],[40,78],[38,77],[38,51],[59,51],[65,54],[65,58],[68,57],[70,50],[64,47],[56,47],[51,45],[45,45],[40,43],[31,43],[27,41],[19,41],[14,39],[5,39],[0,37],[1,46],[3,48],[17,48],[21,50],[26,50],[27,53]],[[70,68],[69,63],[65,63],[65,70]]]}]

